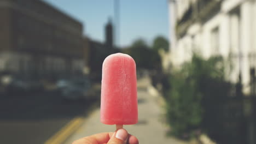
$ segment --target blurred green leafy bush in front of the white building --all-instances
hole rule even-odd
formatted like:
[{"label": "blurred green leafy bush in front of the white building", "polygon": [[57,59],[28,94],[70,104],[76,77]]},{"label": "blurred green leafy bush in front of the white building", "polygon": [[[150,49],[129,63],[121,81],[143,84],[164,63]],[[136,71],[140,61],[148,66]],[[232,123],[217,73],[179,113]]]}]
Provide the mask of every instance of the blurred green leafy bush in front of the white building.
[{"label": "blurred green leafy bush in front of the white building", "polygon": [[221,110],[231,88],[224,80],[222,57],[204,60],[194,55],[168,80],[170,87],[164,89],[164,96],[171,134],[183,138],[201,130],[210,135],[221,134]]}]

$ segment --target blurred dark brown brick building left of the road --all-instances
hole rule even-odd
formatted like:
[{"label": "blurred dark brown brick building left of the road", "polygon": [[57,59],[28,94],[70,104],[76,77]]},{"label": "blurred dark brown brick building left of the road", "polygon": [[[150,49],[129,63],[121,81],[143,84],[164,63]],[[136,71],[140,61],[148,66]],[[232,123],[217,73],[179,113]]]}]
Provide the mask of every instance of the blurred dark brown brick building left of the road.
[{"label": "blurred dark brown brick building left of the road", "polygon": [[40,0],[0,0],[0,71],[66,77],[84,67],[83,25]]}]

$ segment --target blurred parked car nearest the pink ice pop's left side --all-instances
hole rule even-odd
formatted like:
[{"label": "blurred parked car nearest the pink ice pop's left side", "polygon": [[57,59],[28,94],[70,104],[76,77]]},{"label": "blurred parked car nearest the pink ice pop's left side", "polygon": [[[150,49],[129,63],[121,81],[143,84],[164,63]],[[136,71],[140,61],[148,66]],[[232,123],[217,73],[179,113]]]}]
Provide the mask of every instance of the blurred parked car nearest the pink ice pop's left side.
[{"label": "blurred parked car nearest the pink ice pop's left side", "polygon": [[65,100],[91,100],[94,97],[90,80],[88,78],[73,79],[59,82],[61,95]]}]

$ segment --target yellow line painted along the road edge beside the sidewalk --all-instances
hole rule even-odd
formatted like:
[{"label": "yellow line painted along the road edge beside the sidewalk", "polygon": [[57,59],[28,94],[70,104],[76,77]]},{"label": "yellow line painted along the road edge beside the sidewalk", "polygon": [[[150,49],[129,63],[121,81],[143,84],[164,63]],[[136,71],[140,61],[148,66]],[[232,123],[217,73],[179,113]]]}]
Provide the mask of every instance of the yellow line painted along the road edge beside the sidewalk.
[{"label": "yellow line painted along the road edge beside the sidewalk", "polygon": [[68,136],[74,133],[80,125],[84,122],[84,118],[77,117],[72,119],[68,124],[65,125],[60,131],[58,131],[55,135],[50,137],[44,144],[60,144],[63,143]]}]

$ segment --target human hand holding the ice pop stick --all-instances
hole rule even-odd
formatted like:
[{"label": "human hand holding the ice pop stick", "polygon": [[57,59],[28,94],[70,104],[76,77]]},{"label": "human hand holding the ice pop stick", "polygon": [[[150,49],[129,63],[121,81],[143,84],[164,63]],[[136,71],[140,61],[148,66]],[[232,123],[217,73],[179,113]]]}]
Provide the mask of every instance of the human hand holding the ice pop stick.
[{"label": "human hand holding the ice pop stick", "polygon": [[100,133],[83,137],[72,144],[138,144],[138,139],[127,133],[125,129],[118,129],[115,133]]}]

